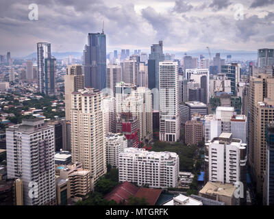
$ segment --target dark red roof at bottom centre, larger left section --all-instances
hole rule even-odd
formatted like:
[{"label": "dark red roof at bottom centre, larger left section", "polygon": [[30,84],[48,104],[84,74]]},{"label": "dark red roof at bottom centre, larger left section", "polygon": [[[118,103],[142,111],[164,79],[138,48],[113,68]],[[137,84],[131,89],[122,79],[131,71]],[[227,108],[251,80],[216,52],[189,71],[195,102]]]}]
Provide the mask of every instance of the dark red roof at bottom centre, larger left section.
[{"label": "dark red roof at bottom centre, larger left section", "polygon": [[129,183],[128,181],[125,181],[124,183],[121,183],[120,185],[117,185],[112,192],[105,195],[105,199],[108,201],[114,200],[116,203],[119,203],[120,201],[123,202],[125,200],[125,203],[127,203],[127,199],[130,196],[134,196],[136,192],[138,191],[138,188],[133,185],[132,183]]}]

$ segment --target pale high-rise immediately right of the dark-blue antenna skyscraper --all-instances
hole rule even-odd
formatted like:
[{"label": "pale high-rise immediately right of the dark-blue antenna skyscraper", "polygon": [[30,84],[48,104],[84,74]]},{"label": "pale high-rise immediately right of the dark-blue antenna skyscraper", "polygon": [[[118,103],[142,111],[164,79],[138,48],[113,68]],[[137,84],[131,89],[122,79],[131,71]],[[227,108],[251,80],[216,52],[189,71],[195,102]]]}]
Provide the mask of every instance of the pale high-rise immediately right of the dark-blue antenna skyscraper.
[{"label": "pale high-rise immediately right of the dark-blue antenna skyscraper", "polygon": [[116,83],[122,81],[122,68],[120,64],[108,64],[107,66],[107,88],[108,94],[115,96]]}]

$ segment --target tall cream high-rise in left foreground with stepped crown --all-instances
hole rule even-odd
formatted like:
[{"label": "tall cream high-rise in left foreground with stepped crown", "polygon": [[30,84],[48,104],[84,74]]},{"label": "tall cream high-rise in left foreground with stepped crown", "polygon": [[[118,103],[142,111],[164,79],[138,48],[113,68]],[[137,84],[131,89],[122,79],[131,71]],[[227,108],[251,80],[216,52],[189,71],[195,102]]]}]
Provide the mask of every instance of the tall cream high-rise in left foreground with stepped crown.
[{"label": "tall cream high-rise in left foreground with stepped crown", "polygon": [[90,188],[106,172],[103,96],[95,88],[71,94],[71,151],[73,162],[90,170]]}]

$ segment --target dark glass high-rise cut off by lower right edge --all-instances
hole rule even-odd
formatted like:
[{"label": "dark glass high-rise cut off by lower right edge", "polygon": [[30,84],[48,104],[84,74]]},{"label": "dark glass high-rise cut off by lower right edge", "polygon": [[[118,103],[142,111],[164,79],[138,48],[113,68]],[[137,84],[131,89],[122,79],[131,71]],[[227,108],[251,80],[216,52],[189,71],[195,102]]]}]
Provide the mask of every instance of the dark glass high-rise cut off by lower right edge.
[{"label": "dark glass high-rise cut off by lower right edge", "polygon": [[274,122],[266,124],[266,171],[264,174],[264,205],[274,205]]}]

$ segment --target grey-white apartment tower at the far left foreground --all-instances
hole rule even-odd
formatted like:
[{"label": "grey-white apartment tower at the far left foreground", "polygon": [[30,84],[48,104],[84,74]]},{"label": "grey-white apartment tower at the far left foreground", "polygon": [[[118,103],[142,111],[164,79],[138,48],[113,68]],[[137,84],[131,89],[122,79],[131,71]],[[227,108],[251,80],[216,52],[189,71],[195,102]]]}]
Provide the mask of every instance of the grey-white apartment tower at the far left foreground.
[{"label": "grey-white apartment tower at the far left foreground", "polygon": [[55,133],[42,118],[6,129],[8,178],[23,180],[24,205],[55,204]]}]

